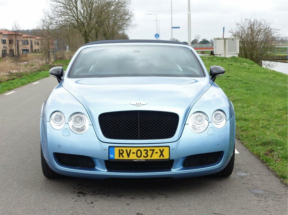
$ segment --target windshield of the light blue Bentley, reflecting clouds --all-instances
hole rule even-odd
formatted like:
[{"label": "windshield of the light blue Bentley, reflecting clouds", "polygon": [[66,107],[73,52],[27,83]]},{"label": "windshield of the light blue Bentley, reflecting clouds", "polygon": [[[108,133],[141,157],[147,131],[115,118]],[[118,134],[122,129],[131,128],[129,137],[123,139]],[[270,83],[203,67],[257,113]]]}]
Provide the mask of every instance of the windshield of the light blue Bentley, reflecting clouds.
[{"label": "windshield of the light blue Bentley, reflecting clouds", "polygon": [[69,78],[163,76],[204,77],[192,51],[179,46],[125,45],[83,49]]}]

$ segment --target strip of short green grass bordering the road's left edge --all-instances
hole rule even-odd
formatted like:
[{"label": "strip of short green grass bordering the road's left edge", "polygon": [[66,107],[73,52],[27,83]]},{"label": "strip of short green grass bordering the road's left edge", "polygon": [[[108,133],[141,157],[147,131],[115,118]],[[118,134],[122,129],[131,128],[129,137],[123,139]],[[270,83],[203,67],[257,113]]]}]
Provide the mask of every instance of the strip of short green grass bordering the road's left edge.
[{"label": "strip of short green grass bordering the road's left edge", "polygon": [[[70,60],[59,60],[59,61],[55,61],[52,63],[52,65],[63,65],[64,70],[67,68],[67,65],[69,64]],[[66,65],[66,66],[64,66]],[[48,67],[47,65],[43,66],[43,68]],[[17,78],[15,76],[16,79],[11,80],[11,81],[6,81],[6,82],[1,82],[0,83],[0,94],[1,93],[5,93],[9,90],[15,89],[17,87],[20,86],[24,86],[26,84],[29,84],[31,82],[37,81],[39,79],[42,78],[46,78],[49,76],[49,69],[44,70],[44,71],[36,71],[36,72],[28,72],[25,74],[21,74],[22,76],[20,78]]]}]

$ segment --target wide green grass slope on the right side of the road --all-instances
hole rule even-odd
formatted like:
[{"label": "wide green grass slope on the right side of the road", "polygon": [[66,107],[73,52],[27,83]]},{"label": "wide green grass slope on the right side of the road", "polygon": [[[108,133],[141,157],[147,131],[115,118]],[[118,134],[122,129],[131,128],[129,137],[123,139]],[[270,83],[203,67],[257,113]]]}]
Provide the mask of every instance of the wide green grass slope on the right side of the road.
[{"label": "wide green grass slope on the right side of the road", "polygon": [[237,139],[287,184],[287,75],[243,58],[201,58],[208,71],[225,68],[215,82],[234,105]]}]

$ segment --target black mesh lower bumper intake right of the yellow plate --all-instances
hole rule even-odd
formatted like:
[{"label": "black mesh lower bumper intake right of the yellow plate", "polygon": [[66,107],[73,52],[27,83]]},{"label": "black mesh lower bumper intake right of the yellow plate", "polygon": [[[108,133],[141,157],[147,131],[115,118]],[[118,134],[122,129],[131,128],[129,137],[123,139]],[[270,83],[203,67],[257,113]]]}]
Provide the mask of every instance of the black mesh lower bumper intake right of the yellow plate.
[{"label": "black mesh lower bumper intake right of the yellow plate", "polygon": [[194,167],[194,166],[205,166],[216,163],[220,156],[220,151],[204,153],[198,155],[190,155],[188,156],[184,163],[184,167]]}]

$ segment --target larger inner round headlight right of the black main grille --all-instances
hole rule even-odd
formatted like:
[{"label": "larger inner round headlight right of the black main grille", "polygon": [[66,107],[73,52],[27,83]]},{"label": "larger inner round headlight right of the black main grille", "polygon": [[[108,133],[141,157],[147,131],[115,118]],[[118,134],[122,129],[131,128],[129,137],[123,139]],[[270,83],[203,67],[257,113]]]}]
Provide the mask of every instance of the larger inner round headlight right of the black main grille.
[{"label": "larger inner round headlight right of the black main grille", "polygon": [[203,112],[195,112],[189,118],[189,127],[196,133],[205,131],[205,129],[208,127],[208,124],[208,116]]}]

